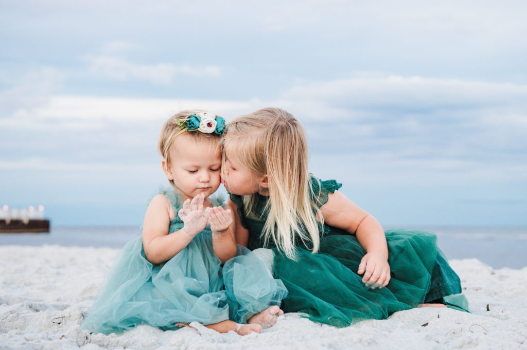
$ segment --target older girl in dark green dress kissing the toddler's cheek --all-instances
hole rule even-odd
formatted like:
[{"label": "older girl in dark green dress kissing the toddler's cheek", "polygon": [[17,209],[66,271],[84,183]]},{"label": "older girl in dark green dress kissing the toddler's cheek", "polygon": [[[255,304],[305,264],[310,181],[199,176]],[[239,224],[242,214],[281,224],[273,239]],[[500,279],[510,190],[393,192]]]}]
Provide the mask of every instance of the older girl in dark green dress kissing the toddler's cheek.
[{"label": "older girl in dark green dress kissing the toddler's cheek", "polygon": [[466,308],[434,234],[384,232],[339,183],[308,173],[304,128],[291,114],[264,108],[233,119],[223,156],[237,242],[273,248],[285,312],[347,326],[416,306]]}]

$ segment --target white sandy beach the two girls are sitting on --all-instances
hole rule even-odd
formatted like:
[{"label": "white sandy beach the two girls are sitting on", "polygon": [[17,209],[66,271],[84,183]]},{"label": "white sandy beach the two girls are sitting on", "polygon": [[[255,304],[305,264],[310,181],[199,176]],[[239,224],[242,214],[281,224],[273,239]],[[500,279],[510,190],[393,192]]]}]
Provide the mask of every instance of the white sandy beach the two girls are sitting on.
[{"label": "white sandy beach the two girls are sitting on", "polygon": [[[0,246],[0,349],[527,349],[527,267],[451,264],[471,314],[417,308],[335,328],[286,314],[260,334],[219,334],[199,324],[121,335],[80,327],[118,249]],[[490,311],[487,311],[487,305]]]}]

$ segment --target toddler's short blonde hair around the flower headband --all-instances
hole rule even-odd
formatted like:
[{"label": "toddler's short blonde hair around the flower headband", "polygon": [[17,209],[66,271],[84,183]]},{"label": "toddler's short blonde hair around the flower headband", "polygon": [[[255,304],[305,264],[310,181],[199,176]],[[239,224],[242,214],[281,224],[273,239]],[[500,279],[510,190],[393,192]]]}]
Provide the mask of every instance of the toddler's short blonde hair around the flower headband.
[{"label": "toddler's short blonde hair around the flower headband", "polygon": [[[202,109],[188,109],[186,111],[181,111],[178,114],[175,114],[168,118],[168,120],[163,124],[161,128],[161,133],[159,134],[158,139],[158,152],[163,158],[163,161],[167,164],[167,168],[170,166],[170,146],[174,143],[175,139],[186,133],[194,137],[194,141],[201,143],[206,140],[209,142],[215,141],[218,142],[221,139],[221,135],[218,134],[206,134],[199,132],[198,129],[188,130],[186,128],[181,128],[182,122],[187,122],[190,115],[199,114],[203,111]],[[169,180],[172,186],[174,186],[174,181]]]}]

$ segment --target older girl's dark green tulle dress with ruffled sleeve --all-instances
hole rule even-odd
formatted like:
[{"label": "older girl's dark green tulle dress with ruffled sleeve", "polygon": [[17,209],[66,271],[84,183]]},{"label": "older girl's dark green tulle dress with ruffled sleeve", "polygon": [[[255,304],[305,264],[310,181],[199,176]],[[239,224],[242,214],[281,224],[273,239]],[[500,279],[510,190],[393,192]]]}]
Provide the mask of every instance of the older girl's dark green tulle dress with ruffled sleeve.
[{"label": "older girl's dark green tulle dress with ruffled sleeve", "polygon": [[[330,192],[341,187],[335,180],[312,180],[312,200],[319,207],[328,201]],[[309,247],[297,244],[295,261],[272,243],[264,242],[268,197],[259,197],[256,218],[246,216],[241,196],[231,194],[230,198],[238,206],[242,225],[249,229],[248,247],[270,247],[274,252],[275,278],[280,278],[289,292],[282,301],[284,312],[297,312],[312,321],[345,327],[364,319],[383,319],[423,303],[444,303],[462,311],[468,307],[460,294],[460,278],[437,247],[433,233],[386,231],[391,280],[384,288],[370,288],[356,273],[366,253],[354,235],[325,225],[319,252],[312,254]]]}]

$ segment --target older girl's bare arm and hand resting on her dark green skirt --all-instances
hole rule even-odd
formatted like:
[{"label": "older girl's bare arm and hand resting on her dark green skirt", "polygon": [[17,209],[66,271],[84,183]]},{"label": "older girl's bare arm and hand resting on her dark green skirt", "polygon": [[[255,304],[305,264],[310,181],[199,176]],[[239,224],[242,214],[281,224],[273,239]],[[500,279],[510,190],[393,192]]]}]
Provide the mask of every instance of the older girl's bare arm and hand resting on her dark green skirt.
[{"label": "older girl's bare arm and hand resting on her dark green skirt", "polygon": [[360,261],[358,274],[363,274],[365,283],[387,285],[390,280],[388,245],[382,226],[375,217],[368,214],[338,191],[329,194],[329,199],[320,211],[328,225],[345,229],[355,234],[366,255]]}]

